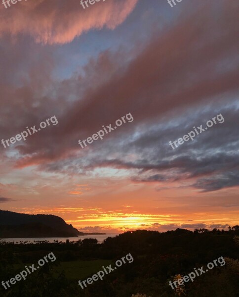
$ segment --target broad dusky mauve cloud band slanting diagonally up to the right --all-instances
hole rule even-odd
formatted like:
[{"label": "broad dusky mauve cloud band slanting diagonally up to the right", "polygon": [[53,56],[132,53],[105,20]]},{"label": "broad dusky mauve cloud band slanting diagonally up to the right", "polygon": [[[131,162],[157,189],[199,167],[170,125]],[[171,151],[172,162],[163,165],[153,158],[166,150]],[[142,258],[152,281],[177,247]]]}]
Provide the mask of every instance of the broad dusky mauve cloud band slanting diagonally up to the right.
[{"label": "broad dusky mauve cloud band slanting diagonally up to the right", "polygon": [[[64,113],[59,115],[59,124],[54,127],[53,135],[52,129],[48,129],[48,132],[45,130],[44,136],[39,134],[37,141],[32,138],[28,140],[27,146],[19,147],[22,154],[28,154],[19,165],[49,163],[50,160],[65,158],[80,149],[76,145],[79,138],[87,138],[98,131],[102,124],[114,123],[128,112],[133,114],[135,120],[130,125],[120,127],[122,132],[135,128],[135,123],[147,124],[156,120],[156,117],[162,118],[172,108],[193,107],[199,102],[206,103],[208,98],[213,101],[222,93],[236,91],[239,71],[228,68],[220,72],[217,67],[228,52],[231,52],[232,58],[236,54],[237,41],[233,36],[237,19],[232,13],[230,22],[215,23],[211,17],[212,9],[213,5],[209,9],[210,13],[203,16],[198,11],[191,12],[170,29],[160,34],[158,32],[143,51],[137,52],[136,49],[136,56],[128,65],[122,61],[123,67],[118,69],[118,73],[100,86],[85,91],[82,98],[72,105],[67,104]],[[225,19],[228,9],[222,11]],[[224,32],[222,35],[218,33],[221,30]],[[192,39],[194,32],[198,32],[198,36]],[[183,38],[178,39],[178,36]],[[210,44],[209,38],[212,39]],[[198,58],[195,59],[195,56]],[[146,65],[147,72],[144,71]],[[194,79],[192,72],[195,73]],[[78,91],[75,86],[79,84],[79,79],[73,77],[69,81],[72,90]],[[55,92],[59,91],[65,93],[63,82]],[[117,137],[116,132],[108,137],[114,138],[113,135]],[[49,139],[52,139],[50,144]],[[87,154],[91,148],[81,153]]]}]

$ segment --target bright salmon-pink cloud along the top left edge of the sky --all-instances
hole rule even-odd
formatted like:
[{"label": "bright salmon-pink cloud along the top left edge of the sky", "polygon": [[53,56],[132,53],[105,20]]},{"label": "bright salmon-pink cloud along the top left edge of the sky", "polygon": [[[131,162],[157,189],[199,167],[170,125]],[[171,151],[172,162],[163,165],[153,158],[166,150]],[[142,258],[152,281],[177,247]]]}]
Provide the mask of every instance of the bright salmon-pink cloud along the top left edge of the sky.
[{"label": "bright salmon-pink cloud along the top left edge of the sky", "polygon": [[138,0],[96,2],[83,9],[80,0],[29,0],[0,9],[0,35],[32,36],[44,44],[71,42],[91,29],[114,29],[134,9]]}]

